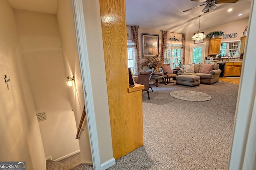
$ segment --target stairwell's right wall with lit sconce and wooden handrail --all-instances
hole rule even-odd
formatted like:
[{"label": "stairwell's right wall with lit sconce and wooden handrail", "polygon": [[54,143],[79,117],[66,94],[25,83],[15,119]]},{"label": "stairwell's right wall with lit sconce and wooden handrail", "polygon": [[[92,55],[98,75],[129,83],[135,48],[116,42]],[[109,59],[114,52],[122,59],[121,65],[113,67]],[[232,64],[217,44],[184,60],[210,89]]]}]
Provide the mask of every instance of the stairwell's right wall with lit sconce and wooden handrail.
[{"label": "stairwell's right wall with lit sconce and wooden handrail", "polygon": [[[74,25],[74,16],[71,0],[58,1],[57,12],[58,26],[60,30],[60,39],[62,44],[62,53],[66,76],[75,76],[75,86],[68,88],[69,101],[74,110],[76,119],[76,129],[78,129],[82,111],[84,108],[84,92],[82,88],[82,79],[80,72],[80,63],[78,58],[78,49],[76,41],[76,32]],[[82,162],[92,163],[89,133],[86,119],[82,126],[84,131],[80,131],[80,154]]]}]

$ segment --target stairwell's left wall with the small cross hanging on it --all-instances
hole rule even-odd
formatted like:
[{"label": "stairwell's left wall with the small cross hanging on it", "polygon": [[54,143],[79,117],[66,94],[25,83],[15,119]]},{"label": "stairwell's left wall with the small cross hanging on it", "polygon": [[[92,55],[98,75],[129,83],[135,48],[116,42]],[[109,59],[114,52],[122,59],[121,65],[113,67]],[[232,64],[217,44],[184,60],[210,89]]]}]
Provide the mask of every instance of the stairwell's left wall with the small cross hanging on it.
[{"label": "stairwell's left wall with the small cross hanging on it", "polygon": [[[6,0],[0,1],[0,18],[0,160],[25,161],[28,170],[44,170],[45,155],[36,109],[14,11]],[[10,90],[4,74],[10,77]]]}]

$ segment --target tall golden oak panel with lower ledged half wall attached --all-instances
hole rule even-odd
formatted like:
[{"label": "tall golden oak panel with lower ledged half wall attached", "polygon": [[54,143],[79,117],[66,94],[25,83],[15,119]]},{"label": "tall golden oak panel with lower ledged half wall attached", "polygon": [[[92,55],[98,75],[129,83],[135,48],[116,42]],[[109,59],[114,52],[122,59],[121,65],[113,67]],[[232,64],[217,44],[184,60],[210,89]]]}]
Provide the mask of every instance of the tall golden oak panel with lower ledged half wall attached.
[{"label": "tall golden oak panel with lower ledged half wall attached", "polygon": [[100,15],[113,154],[118,159],[143,145],[144,86],[129,90],[125,0],[100,0]]}]

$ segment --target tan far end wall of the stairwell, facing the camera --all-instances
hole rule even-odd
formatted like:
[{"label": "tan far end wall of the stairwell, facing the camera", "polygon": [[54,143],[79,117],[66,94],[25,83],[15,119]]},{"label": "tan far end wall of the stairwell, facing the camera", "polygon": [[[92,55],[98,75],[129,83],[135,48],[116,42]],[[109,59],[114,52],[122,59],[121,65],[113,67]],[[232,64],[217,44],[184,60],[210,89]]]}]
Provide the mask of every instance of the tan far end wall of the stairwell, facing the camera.
[{"label": "tan far end wall of the stairwell, facing the camera", "polygon": [[36,113],[46,114],[46,120],[39,122],[45,156],[60,159],[77,152],[79,145],[68,100],[57,17],[14,11]]}]

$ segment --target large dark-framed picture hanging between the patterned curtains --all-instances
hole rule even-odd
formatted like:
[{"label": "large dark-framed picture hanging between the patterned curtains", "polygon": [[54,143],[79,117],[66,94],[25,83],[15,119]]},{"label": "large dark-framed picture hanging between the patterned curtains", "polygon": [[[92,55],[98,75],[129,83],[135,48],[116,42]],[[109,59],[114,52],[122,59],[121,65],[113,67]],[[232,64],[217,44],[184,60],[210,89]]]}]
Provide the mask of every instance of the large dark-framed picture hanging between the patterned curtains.
[{"label": "large dark-framed picture hanging between the patterned curtains", "polygon": [[159,53],[159,35],[142,33],[142,57],[153,57]]}]

